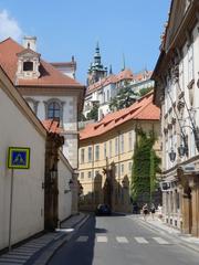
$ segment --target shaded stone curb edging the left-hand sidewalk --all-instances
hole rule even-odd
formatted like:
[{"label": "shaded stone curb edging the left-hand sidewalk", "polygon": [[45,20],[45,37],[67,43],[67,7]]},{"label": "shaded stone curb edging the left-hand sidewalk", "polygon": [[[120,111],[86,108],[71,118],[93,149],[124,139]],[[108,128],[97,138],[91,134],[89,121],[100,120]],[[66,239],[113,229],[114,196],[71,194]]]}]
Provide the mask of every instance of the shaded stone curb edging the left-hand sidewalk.
[{"label": "shaded stone curb edging the left-hand sidewalk", "polygon": [[90,215],[85,215],[76,225],[74,225],[74,231],[70,235],[65,235],[59,239],[53,245],[48,247],[48,250],[42,253],[39,258],[33,263],[33,265],[46,265],[48,262],[54,256],[59,248],[64,245],[72,236],[83,226],[83,224],[88,220]]}]

